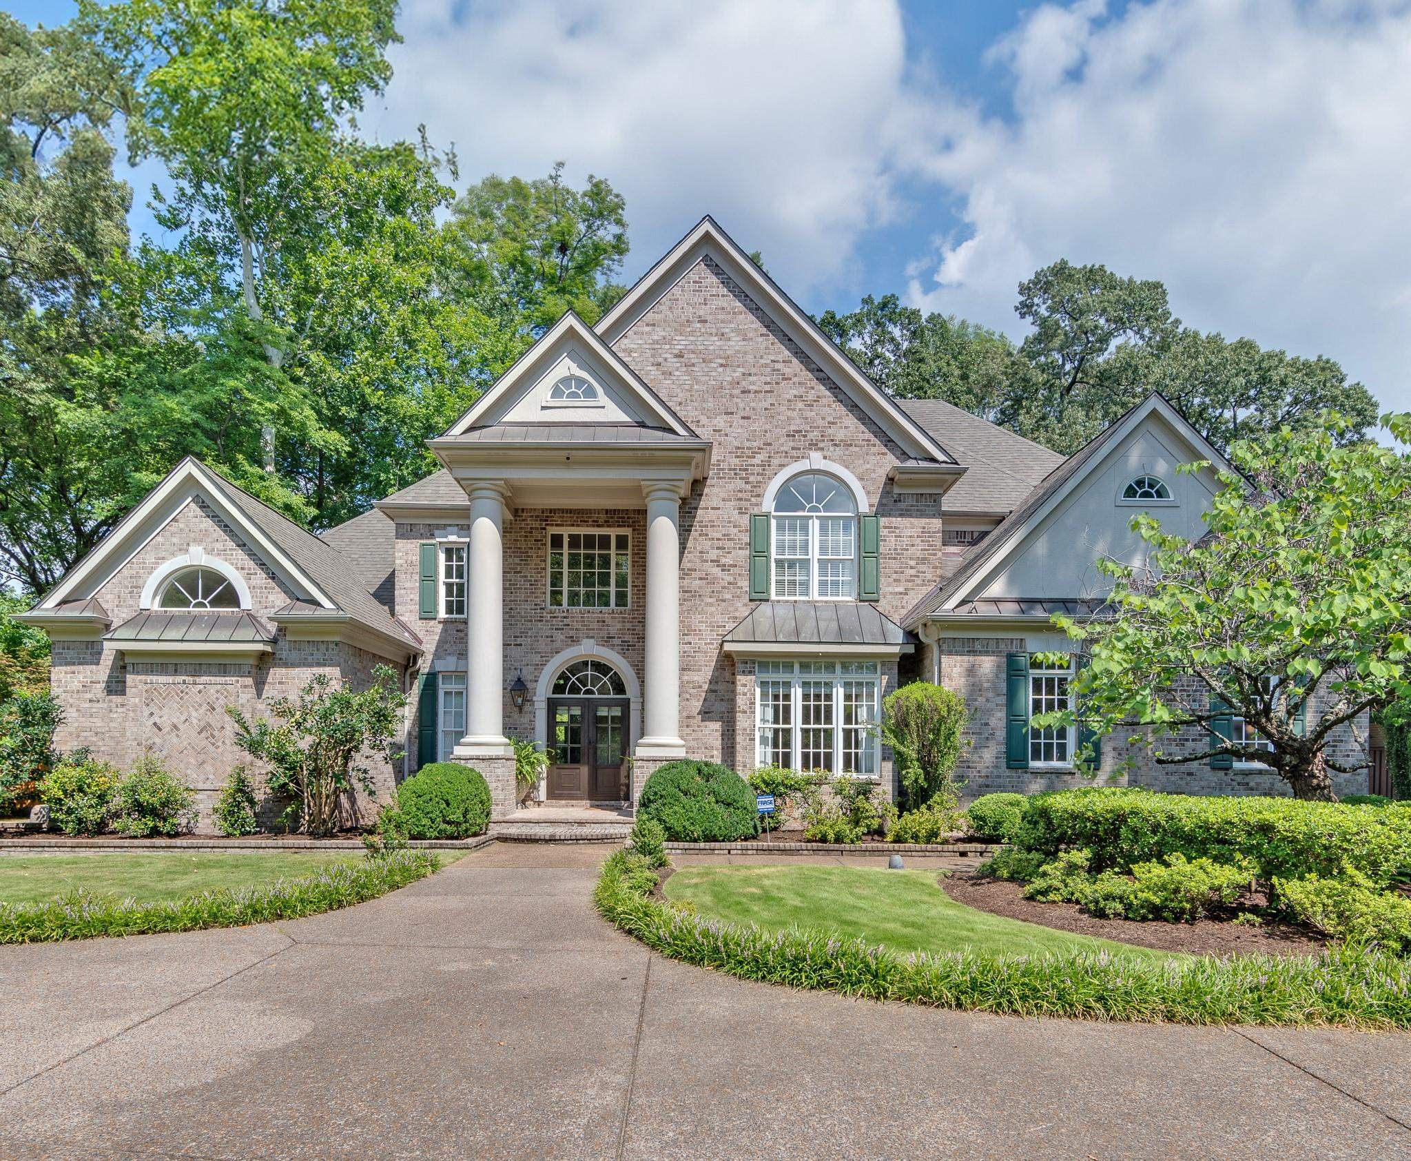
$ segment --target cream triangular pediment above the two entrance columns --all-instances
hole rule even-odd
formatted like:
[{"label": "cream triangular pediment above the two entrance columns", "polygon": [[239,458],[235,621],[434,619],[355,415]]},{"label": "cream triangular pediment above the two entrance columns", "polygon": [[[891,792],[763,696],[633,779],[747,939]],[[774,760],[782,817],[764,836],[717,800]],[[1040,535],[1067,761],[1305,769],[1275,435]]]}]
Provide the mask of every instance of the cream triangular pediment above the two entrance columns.
[{"label": "cream triangular pediment above the two entrance columns", "polygon": [[[595,399],[549,398],[566,378],[586,379]],[[622,358],[571,310],[505,371],[474,406],[446,430],[460,436],[494,423],[636,423],[693,436],[690,427]]]}]

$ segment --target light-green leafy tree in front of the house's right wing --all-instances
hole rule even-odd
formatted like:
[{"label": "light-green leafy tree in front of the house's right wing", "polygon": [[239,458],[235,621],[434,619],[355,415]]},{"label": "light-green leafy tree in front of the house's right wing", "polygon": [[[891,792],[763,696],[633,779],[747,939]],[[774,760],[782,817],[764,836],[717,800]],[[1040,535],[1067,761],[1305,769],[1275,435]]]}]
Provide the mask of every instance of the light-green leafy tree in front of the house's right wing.
[{"label": "light-green leafy tree in front of the house's right wing", "polygon": [[1332,416],[1237,440],[1198,540],[1133,519],[1151,557],[1099,563],[1110,616],[1055,618],[1091,650],[1089,729],[1137,722],[1158,763],[1261,762],[1300,798],[1333,797],[1329,770],[1364,765],[1329,753],[1335,731],[1411,694],[1411,416],[1384,422],[1397,447],[1349,444]]}]

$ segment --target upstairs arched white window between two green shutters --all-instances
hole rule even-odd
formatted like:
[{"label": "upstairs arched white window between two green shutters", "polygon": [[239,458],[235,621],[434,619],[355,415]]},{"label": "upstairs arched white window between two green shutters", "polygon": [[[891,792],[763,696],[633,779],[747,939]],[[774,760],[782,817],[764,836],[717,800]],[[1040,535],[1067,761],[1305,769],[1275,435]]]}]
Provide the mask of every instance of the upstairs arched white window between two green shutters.
[{"label": "upstairs arched white window between two green shutters", "polygon": [[775,497],[773,595],[852,600],[858,595],[858,508],[831,475],[796,475]]}]

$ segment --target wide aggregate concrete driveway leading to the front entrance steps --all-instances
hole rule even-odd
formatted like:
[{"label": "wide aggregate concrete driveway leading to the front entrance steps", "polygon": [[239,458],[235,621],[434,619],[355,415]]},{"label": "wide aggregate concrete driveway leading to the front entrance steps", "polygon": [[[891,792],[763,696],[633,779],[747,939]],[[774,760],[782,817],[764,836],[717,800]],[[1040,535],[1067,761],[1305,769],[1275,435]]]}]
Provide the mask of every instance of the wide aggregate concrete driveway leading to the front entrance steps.
[{"label": "wide aggregate concrete driveway leading to the front entrance steps", "polygon": [[794,993],[495,845],[238,931],[0,948],[0,1157],[1411,1157],[1411,1035]]}]

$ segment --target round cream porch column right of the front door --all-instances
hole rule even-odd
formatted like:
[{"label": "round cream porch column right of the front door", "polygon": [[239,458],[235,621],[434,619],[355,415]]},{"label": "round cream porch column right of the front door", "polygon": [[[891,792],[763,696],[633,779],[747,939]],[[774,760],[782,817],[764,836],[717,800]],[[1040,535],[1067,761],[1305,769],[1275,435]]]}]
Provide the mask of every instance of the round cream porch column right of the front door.
[{"label": "round cream porch column right of the front door", "polygon": [[642,484],[646,494],[646,683],[639,758],[684,758],[682,741],[680,485]]}]

